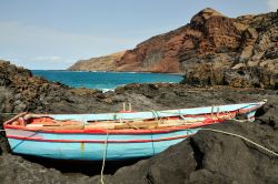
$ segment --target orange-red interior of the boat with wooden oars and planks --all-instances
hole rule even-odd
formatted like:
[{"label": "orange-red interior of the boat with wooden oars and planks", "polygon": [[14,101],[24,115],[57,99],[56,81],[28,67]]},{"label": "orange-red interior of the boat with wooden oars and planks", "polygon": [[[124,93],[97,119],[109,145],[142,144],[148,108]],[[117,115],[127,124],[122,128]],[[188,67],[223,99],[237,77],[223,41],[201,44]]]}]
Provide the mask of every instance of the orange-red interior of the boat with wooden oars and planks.
[{"label": "orange-red interior of the boat with wooden oars and planks", "polygon": [[[81,114],[80,114],[81,116]],[[221,120],[235,117],[234,113],[211,113],[200,115],[177,115],[155,119],[76,121],[54,120],[50,115],[19,114],[6,122],[7,125],[28,130],[153,130],[173,126],[197,127],[203,124],[219,123]]]}]

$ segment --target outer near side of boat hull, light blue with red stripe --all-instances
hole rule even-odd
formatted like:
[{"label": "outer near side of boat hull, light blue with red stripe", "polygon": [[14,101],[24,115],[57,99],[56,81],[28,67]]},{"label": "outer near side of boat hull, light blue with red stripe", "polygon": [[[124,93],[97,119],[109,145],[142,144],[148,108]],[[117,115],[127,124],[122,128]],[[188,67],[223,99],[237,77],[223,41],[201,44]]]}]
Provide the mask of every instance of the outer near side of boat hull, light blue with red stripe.
[{"label": "outer near side of boat hull, light blue with red stripe", "polygon": [[[58,160],[101,161],[149,157],[177,144],[198,129],[180,130],[162,134],[52,134],[13,131],[9,136],[11,150]],[[8,133],[11,131],[7,131]],[[31,134],[34,134],[30,136]]]}]

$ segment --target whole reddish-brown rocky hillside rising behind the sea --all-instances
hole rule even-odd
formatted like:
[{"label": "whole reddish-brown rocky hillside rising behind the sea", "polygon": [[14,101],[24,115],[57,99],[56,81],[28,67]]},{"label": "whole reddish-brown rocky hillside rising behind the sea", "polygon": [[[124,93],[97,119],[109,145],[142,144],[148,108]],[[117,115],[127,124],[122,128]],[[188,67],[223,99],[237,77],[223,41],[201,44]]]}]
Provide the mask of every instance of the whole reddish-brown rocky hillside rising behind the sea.
[{"label": "whole reddish-brown rocky hillside rising behind the sea", "polygon": [[78,63],[88,64],[87,70],[179,73],[202,63],[222,69],[259,65],[278,73],[277,22],[275,12],[228,18],[208,8],[190,23],[138,44],[120,59],[108,60],[109,64],[103,64],[106,57]]}]

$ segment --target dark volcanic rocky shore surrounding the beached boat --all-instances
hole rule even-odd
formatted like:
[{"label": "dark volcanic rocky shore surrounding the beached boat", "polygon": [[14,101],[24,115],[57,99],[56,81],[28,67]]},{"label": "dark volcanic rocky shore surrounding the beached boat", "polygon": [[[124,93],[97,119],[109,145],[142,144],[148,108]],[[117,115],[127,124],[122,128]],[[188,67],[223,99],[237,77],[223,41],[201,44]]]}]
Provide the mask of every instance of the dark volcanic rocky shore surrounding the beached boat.
[{"label": "dark volcanic rocky shore surrounding the beached boat", "polygon": [[[278,91],[256,88],[191,86],[188,84],[129,84],[115,92],[71,89],[32,76],[9,62],[0,62],[0,124],[22,111],[41,113],[117,112],[123,102],[135,111],[218,105],[261,101],[256,123],[226,122],[211,126],[244,135],[278,153]],[[99,175],[64,173],[12,155],[1,133],[1,183],[98,183]],[[100,172],[100,168],[96,168]],[[109,167],[107,167],[109,170]],[[99,173],[96,172],[95,173]],[[278,160],[238,139],[215,132],[197,135],[161,154],[119,168],[106,183],[277,183]]]}]

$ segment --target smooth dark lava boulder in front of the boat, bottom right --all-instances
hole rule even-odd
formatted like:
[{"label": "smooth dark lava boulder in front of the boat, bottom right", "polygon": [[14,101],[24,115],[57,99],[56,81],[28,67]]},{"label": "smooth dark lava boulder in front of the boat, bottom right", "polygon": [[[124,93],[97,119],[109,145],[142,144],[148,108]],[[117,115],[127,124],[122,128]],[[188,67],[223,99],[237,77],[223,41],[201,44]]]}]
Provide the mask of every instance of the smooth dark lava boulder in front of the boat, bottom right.
[{"label": "smooth dark lava boulder in front of the boat, bottom right", "polygon": [[[228,121],[208,129],[242,135],[278,153],[278,132]],[[99,176],[95,176],[97,182]],[[239,137],[200,131],[165,152],[105,176],[106,183],[277,183],[278,157]]]}]

